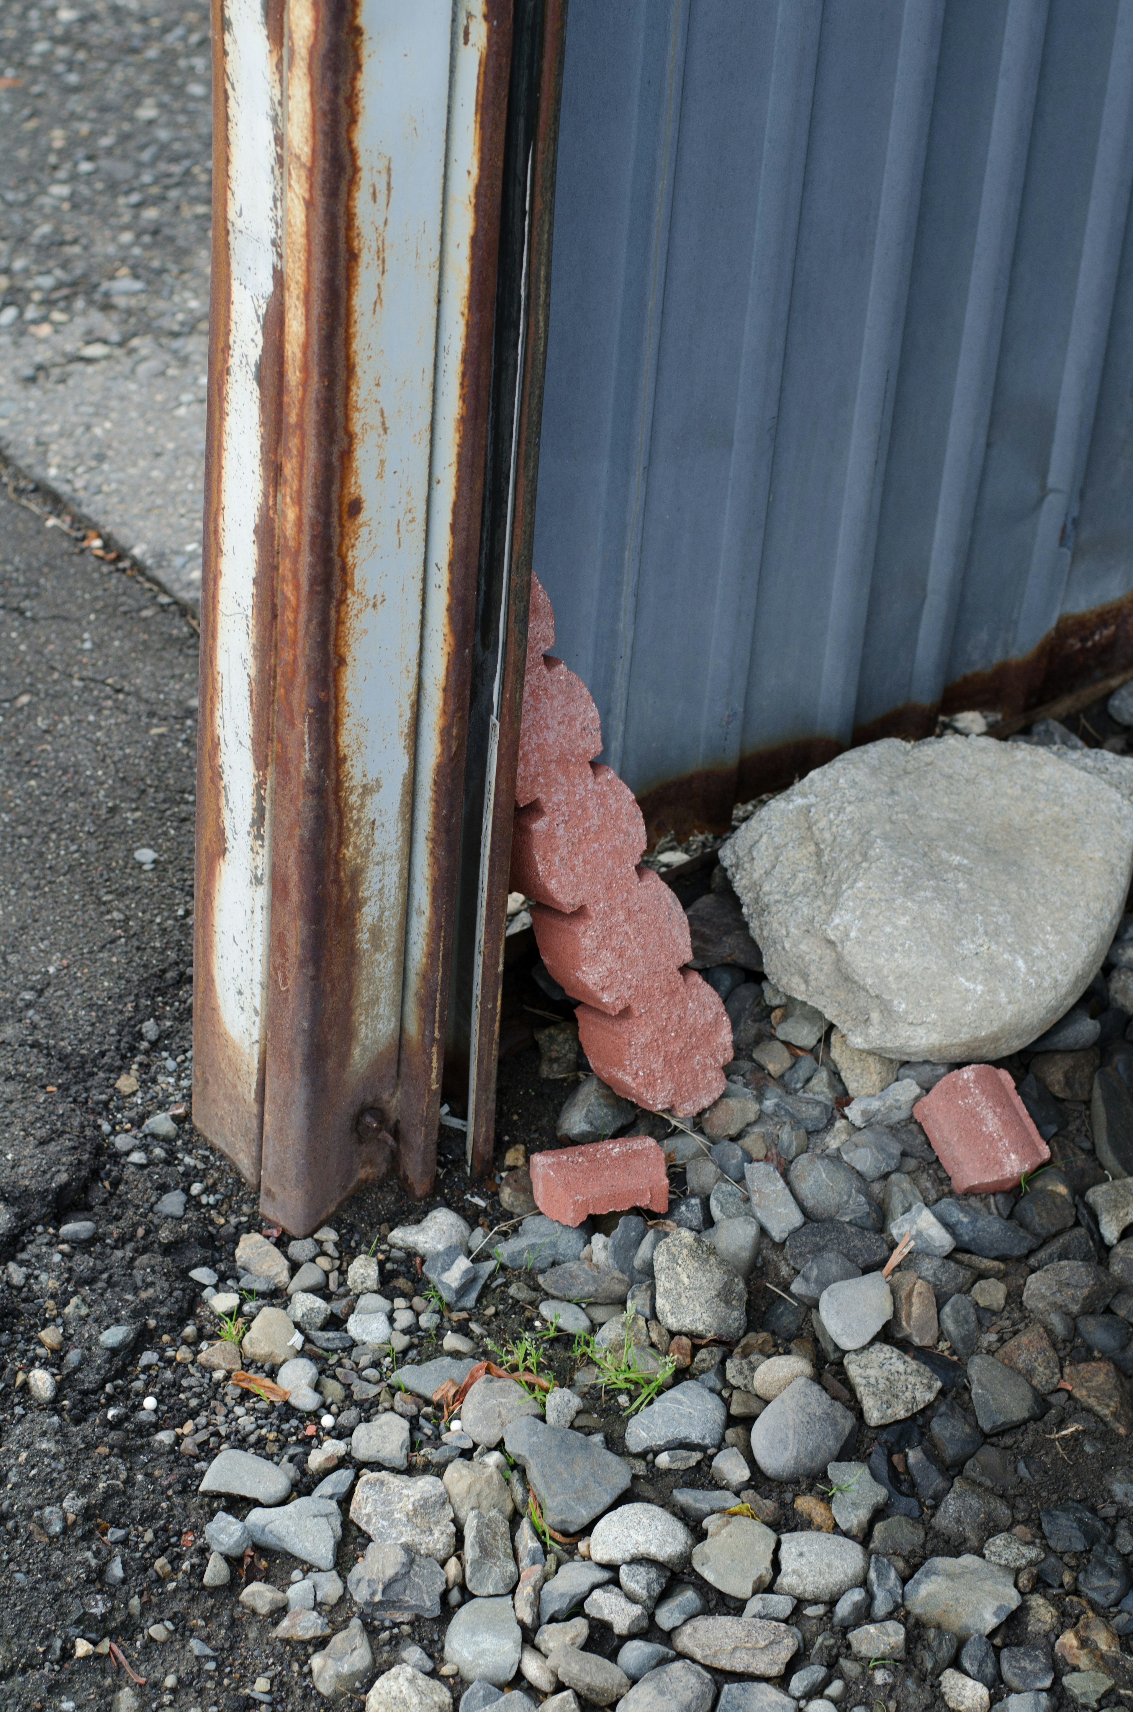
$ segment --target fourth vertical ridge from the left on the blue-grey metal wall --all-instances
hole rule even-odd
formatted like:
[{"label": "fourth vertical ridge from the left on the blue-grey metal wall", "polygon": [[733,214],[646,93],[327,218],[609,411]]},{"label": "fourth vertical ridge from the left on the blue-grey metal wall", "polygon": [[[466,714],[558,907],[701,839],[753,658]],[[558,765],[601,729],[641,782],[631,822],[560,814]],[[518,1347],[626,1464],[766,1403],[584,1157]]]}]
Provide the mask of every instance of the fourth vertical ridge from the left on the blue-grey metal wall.
[{"label": "fourth vertical ridge from the left on the blue-grey metal wall", "polygon": [[940,702],[984,467],[1049,0],[1010,0],[909,698]]}]

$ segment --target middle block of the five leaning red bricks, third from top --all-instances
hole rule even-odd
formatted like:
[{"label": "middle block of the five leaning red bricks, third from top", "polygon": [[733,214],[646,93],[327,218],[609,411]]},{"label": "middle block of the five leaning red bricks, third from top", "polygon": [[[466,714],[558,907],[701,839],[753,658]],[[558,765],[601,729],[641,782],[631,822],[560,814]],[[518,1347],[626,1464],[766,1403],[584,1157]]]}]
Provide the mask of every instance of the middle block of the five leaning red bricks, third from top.
[{"label": "middle block of the five leaning red bricks, third from top", "polygon": [[512,890],[570,914],[625,883],[645,849],[637,800],[609,767],[563,762],[512,830]]}]

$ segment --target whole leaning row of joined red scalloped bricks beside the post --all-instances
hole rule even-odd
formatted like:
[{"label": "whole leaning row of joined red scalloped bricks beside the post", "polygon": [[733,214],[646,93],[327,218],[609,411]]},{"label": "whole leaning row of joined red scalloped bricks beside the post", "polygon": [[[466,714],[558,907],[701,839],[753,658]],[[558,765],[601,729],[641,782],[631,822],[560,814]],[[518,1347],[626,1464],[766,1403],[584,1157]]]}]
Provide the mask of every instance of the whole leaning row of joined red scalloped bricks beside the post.
[{"label": "whole leaning row of joined red scalloped bricks beside the post", "polygon": [[724,1092],[733,1056],[724,1007],[693,969],[688,921],[650,868],[632,791],[594,757],[597,709],[561,659],[551,603],[531,579],[527,678],[515,781],[512,889],[536,901],[539,952],[580,1000],[578,1039],[596,1073],[650,1111],[690,1116]]}]

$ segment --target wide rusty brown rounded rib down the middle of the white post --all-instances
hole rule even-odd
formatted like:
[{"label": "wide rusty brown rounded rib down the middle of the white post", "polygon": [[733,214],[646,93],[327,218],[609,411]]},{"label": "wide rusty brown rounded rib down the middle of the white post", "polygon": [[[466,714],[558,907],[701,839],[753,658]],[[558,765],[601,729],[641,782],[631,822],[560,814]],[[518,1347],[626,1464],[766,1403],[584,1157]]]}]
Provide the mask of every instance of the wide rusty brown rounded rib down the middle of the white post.
[{"label": "wide rusty brown rounded rib down the middle of the white post", "polygon": [[[267,1087],[260,1205],[313,1229],[389,1169],[354,1132],[395,1065],[353,1085],[358,875],[344,859],[339,621],[346,599],[351,123],[358,29],[347,0],[289,9],[284,402]],[[377,1084],[377,1085],[375,1085]]]}]

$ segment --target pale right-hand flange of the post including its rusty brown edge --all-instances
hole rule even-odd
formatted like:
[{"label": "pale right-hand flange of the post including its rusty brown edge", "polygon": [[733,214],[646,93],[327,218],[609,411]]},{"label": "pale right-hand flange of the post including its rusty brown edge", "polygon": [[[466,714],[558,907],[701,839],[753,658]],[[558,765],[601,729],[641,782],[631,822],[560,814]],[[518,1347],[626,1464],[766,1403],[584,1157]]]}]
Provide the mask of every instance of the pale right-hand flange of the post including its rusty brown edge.
[{"label": "pale right-hand flange of the post including its rusty brown edge", "polygon": [[454,948],[512,56],[510,0],[479,0],[476,12],[455,5],[452,27],[399,1060],[399,1164],[402,1183],[414,1195],[426,1193],[436,1157]]}]

